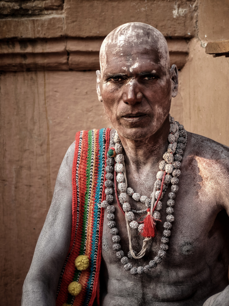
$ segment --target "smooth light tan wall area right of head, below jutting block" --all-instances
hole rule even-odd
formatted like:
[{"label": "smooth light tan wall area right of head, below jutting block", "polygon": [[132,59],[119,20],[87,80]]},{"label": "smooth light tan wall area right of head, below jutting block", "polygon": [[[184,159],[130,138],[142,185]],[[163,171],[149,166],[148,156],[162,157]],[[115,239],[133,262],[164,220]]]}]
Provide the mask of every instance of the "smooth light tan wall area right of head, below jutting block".
[{"label": "smooth light tan wall area right of head, below jutting block", "polygon": [[205,54],[198,38],[191,40],[189,50],[171,113],[180,118],[188,131],[229,146],[229,59]]}]

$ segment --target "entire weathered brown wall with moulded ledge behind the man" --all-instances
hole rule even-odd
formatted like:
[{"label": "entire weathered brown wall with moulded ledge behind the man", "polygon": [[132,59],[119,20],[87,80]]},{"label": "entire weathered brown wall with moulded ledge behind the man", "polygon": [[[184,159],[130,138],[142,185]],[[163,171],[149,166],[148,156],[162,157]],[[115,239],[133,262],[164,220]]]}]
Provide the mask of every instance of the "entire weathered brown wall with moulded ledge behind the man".
[{"label": "entire weathered brown wall with moulded ledge behind the man", "polygon": [[162,31],[180,68],[171,113],[187,130],[229,145],[229,59],[204,48],[229,39],[228,10],[227,0],[0,1],[1,305],[20,305],[75,132],[109,126],[95,69],[113,28],[141,21]]}]

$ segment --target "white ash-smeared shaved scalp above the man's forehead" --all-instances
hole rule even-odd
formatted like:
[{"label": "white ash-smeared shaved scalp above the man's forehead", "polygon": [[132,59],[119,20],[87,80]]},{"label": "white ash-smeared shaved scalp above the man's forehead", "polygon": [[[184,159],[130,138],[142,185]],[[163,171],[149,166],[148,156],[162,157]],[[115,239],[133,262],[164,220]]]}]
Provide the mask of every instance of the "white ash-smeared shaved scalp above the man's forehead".
[{"label": "white ash-smeared shaved scalp above the man's forehead", "polygon": [[156,53],[160,64],[169,70],[169,50],[165,37],[151,25],[141,22],[130,22],[119,26],[107,35],[100,49],[101,72],[110,59],[119,57],[122,52],[133,54]]}]

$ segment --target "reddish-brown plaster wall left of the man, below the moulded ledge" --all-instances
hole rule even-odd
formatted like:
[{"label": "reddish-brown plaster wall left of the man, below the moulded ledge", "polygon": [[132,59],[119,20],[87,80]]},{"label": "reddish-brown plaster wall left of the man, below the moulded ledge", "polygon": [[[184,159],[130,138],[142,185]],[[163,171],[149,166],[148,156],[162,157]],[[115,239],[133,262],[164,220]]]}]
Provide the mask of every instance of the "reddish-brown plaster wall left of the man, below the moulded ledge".
[{"label": "reddish-brown plaster wall left of the man, below the moulded ledge", "polygon": [[[108,127],[95,72],[1,75],[0,305],[20,305],[22,284],[75,132]],[[13,294],[12,294],[13,293]]]}]

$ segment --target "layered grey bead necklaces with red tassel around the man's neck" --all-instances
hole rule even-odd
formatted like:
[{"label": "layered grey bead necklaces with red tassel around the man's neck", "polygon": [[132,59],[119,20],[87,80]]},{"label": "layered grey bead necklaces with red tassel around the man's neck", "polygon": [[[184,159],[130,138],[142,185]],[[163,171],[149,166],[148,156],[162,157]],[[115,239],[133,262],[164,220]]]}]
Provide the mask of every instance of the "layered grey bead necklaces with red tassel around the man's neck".
[{"label": "layered grey bead necklaces with red tassel around the man's neck", "polygon": [[[173,206],[175,205],[175,197],[176,192],[178,191],[178,177],[181,174],[180,171],[180,162],[182,160],[182,155],[184,153],[184,149],[187,144],[187,132],[184,129],[183,125],[180,125],[178,121],[174,121],[174,118],[169,114],[170,121],[170,131],[168,136],[169,146],[168,150],[163,155],[163,160],[159,164],[159,169],[156,177],[157,180],[154,183],[154,190],[151,193],[150,199],[147,196],[141,196],[139,193],[134,192],[134,190],[127,186],[126,172],[125,172],[125,162],[124,155],[122,154],[122,144],[119,139],[117,131],[115,131],[115,135],[111,138],[110,149],[107,153],[107,166],[105,168],[106,181],[105,181],[105,193],[106,200],[104,200],[100,207],[104,207],[107,209],[107,226],[110,228],[110,232],[113,235],[113,250],[116,251],[116,256],[121,259],[121,263],[124,265],[126,271],[130,271],[131,274],[142,274],[143,272],[149,273],[152,268],[156,268],[159,263],[162,262],[162,258],[165,257],[166,250],[168,249],[169,237],[171,235],[172,222],[174,221],[173,216]],[[175,155],[173,155],[175,153]],[[113,179],[113,165],[115,164],[115,177],[114,182]],[[121,192],[118,196],[117,192],[117,184],[118,189]],[[164,222],[164,231],[163,236],[161,238],[160,250],[158,251],[158,255],[154,257],[146,266],[144,267],[133,267],[131,263],[129,263],[129,259],[135,258],[140,259],[145,255],[146,247],[148,241],[151,240],[152,237],[155,236],[155,225],[156,221],[160,219],[159,211],[162,208],[162,202],[160,201],[163,195],[166,192],[169,184],[171,186],[171,192],[169,192],[169,200],[167,201],[168,207],[166,208],[166,222]],[[127,224],[127,232],[129,237],[129,252],[128,257],[124,256],[124,252],[121,250],[120,236],[118,235],[118,229],[115,223],[115,206],[111,205],[114,197],[113,197],[113,188],[115,187],[115,196],[118,202],[118,206],[121,209],[123,215],[125,215],[125,220]],[[142,214],[145,210],[131,210],[130,204],[127,202],[128,196],[132,196],[135,201],[140,201],[145,203],[147,208],[147,216],[143,221],[136,221],[134,214]],[[122,204],[122,206],[121,206]],[[139,232],[142,234],[145,239],[143,240],[143,246],[141,251],[136,254],[136,252],[132,248],[131,243],[131,228],[138,228]]]}]

